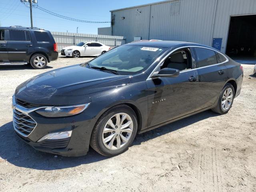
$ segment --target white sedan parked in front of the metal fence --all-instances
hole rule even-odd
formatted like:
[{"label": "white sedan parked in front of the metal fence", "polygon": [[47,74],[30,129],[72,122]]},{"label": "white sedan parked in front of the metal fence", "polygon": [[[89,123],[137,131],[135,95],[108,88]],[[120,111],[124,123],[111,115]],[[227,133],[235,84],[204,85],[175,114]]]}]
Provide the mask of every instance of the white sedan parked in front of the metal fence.
[{"label": "white sedan parked in front of the metal fence", "polygon": [[110,46],[106,46],[99,42],[80,42],[75,46],[64,47],[61,55],[78,58],[80,56],[99,56],[110,50]]}]

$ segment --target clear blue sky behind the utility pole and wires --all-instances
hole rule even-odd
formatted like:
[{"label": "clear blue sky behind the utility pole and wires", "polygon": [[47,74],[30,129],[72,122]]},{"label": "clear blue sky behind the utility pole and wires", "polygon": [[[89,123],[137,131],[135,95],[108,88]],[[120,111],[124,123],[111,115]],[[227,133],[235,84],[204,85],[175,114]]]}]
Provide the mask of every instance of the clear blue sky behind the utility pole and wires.
[{"label": "clear blue sky behind the utility pole and wires", "polygon": [[[110,21],[110,10],[158,2],[160,0],[38,0],[38,5],[60,15],[91,21]],[[97,34],[98,27],[108,27],[110,23],[82,23],[65,20],[33,8],[35,27],[50,31]],[[0,0],[1,26],[30,26],[30,10],[20,0]]]}]

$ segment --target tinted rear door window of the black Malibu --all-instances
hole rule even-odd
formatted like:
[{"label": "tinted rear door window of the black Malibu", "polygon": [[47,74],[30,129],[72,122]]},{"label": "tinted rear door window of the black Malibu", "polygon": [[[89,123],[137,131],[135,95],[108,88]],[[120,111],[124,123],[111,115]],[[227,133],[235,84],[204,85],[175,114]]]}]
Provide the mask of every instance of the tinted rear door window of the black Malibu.
[{"label": "tinted rear door window of the black Malibu", "polygon": [[194,48],[197,57],[198,68],[217,64],[217,57],[214,50],[206,48]]}]

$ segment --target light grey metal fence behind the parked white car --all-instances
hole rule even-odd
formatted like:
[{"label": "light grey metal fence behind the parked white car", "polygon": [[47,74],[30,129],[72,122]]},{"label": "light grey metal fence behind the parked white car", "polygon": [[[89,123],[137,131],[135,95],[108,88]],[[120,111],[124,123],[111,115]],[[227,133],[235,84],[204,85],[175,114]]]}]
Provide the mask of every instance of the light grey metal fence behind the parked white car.
[{"label": "light grey metal fence behind the parked white car", "polygon": [[126,43],[123,36],[51,32],[55,42],[58,44],[58,51],[67,46],[78,44],[82,41],[98,41],[110,47],[120,46]]}]

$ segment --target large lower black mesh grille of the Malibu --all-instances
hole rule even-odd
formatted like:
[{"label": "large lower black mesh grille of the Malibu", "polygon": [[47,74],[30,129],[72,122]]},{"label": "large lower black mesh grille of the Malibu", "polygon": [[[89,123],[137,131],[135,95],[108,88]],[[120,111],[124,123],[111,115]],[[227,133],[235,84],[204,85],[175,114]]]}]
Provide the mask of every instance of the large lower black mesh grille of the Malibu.
[{"label": "large lower black mesh grille of the Malibu", "polygon": [[13,110],[13,122],[16,130],[25,136],[29,135],[36,127],[36,122],[30,116],[16,109]]}]

